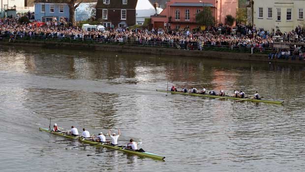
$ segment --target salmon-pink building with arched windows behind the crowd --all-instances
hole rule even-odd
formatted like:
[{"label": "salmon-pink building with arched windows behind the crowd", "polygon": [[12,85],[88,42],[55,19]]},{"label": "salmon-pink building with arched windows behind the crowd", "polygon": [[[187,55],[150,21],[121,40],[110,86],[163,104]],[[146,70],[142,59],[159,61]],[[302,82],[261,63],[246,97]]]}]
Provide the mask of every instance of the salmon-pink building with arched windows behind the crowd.
[{"label": "salmon-pink building with arched windows behind the crowd", "polygon": [[203,6],[211,7],[217,24],[225,22],[226,15],[236,17],[238,0],[169,0],[166,8],[159,14],[152,16],[154,28],[198,28],[196,14]]}]

